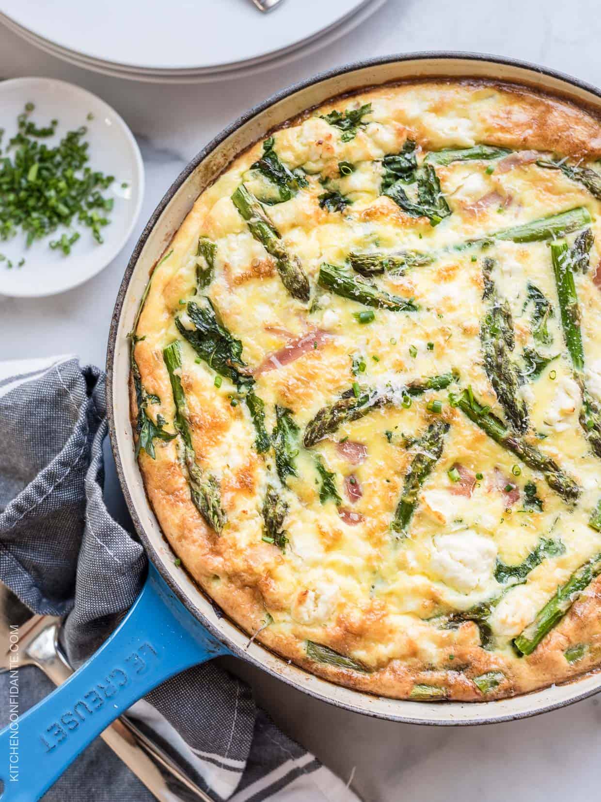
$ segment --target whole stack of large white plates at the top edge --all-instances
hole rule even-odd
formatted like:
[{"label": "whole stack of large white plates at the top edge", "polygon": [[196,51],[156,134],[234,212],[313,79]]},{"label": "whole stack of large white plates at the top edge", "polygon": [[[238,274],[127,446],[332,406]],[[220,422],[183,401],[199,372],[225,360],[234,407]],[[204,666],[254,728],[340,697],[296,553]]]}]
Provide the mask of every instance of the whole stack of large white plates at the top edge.
[{"label": "whole stack of large white plates at the top edge", "polygon": [[332,43],[385,0],[0,0],[0,21],[78,67],[153,83],[236,78]]}]

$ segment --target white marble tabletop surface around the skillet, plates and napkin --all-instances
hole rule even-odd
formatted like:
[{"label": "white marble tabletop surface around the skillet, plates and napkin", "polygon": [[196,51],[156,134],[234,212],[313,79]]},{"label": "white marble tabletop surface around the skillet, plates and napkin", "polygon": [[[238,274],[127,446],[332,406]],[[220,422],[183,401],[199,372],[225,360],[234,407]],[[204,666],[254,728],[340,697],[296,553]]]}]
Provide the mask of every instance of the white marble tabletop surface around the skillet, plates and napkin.
[{"label": "white marble tabletop surface around the skillet, plates and napkin", "polygon": [[[247,79],[160,87],[72,67],[0,26],[0,76],[50,75],[97,93],[131,126],[147,171],[138,230],[103,273],[55,298],[0,297],[0,358],[76,352],[83,362],[103,364],[115,294],[143,223],[188,160],[273,91],[354,59],[418,50],[513,56],[601,86],[599,41],[596,0],[571,0],[569,6],[559,0],[389,0],[361,30],[286,67]],[[109,482],[111,501],[121,514],[114,476]],[[415,727],[317,703],[248,666],[232,662],[232,669],[252,682],[276,721],[326,764],[345,779],[354,770],[353,788],[366,802],[458,797],[462,802],[563,802],[599,796],[600,699],[489,727]]]}]

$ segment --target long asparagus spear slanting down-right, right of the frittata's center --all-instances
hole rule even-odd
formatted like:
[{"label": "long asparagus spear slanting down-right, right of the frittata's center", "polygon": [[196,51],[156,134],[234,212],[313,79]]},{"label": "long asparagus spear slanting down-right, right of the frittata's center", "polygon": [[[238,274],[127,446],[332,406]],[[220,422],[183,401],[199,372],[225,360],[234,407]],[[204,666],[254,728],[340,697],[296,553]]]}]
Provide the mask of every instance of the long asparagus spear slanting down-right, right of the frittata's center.
[{"label": "long asparagus spear slanting down-right, right of the frittata's center", "polygon": [[459,407],[464,415],[494,439],[495,443],[514,453],[533,471],[543,473],[549,487],[559,493],[563,500],[575,501],[579,497],[580,488],[575,480],[568,476],[550,456],[546,456],[523,437],[508,429],[502,420],[490,411],[490,407],[478,403],[471,387],[459,395],[450,393],[449,401],[451,406]]}]

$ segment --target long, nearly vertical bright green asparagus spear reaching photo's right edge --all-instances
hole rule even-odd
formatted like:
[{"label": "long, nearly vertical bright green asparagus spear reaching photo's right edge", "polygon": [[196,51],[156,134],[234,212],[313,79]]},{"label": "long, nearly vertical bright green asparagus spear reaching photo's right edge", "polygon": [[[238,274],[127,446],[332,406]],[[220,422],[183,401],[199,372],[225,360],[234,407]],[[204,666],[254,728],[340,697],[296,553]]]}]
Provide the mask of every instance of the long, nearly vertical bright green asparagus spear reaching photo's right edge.
[{"label": "long, nearly vertical bright green asparagus spear reaching photo's right edge", "polygon": [[601,457],[601,407],[584,383],[584,348],[580,330],[580,309],[574,282],[572,254],[565,240],[551,243],[555,286],[559,299],[563,338],[566,341],[575,379],[583,396],[579,423],[595,454]]}]

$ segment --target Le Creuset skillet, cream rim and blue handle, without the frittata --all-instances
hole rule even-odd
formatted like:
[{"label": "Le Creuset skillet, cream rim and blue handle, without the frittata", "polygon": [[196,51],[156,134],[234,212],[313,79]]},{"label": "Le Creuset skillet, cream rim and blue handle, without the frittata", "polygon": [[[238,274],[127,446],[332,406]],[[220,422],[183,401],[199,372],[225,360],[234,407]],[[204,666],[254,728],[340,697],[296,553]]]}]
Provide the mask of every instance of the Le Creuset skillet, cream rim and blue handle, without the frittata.
[{"label": "Le Creuset skillet, cream rim and blue handle, without the frittata", "polygon": [[[335,95],[405,79],[475,78],[527,86],[585,105],[601,115],[601,92],[567,75],[495,56],[414,53],[349,64],[299,83],[248,111],[212,140],[167,191],[131,256],[111,322],[107,401],[111,444],[135,528],[150,561],[142,593],[102,648],[67,683],[19,720],[18,782],[0,768],[2,800],[31,802],[107,724],[164,679],[184,668],[234,654],[300,691],[347,710],[413,724],[482,724],[555,710],[601,690],[601,673],[512,699],[480,703],[412,702],[353,691],[289,665],[222,616],[188,574],[175,565],[144,492],[129,419],[127,333],[151,269],[192,204],[229,162],[276,126]],[[10,729],[0,734],[9,755]],[[5,751],[6,750],[6,751]]]}]

